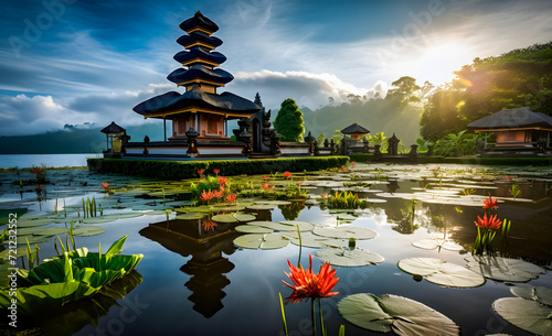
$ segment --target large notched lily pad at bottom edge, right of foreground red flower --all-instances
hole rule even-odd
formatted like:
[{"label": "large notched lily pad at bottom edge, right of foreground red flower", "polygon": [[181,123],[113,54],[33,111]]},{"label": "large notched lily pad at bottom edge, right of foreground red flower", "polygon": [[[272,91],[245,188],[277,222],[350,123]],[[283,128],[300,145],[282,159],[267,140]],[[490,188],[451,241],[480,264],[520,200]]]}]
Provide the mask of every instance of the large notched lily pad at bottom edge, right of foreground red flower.
[{"label": "large notched lily pad at bottom edge, right of foreground red flower", "polygon": [[341,299],[338,311],[361,328],[397,335],[459,335],[459,327],[439,312],[411,299],[384,294],[353,294]]}]

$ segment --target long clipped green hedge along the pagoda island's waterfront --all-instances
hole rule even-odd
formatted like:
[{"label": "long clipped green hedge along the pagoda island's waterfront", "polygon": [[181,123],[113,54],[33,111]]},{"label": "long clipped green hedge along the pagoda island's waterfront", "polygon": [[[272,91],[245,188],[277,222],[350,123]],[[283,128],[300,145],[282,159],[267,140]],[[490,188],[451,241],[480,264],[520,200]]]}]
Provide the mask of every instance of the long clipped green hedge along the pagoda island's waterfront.
[{"label": "long clipped green hedge along the pagoda island's waterfront", "polygon": [[198,170],[220,169],[225,176],[255,175],[270,172],[312,172],[340,167],[347,156],[317,156],[294,159],[164,161],[129,159],[88,159],[88,167],[100,173],[119,173],[155,178],[183,180],[198,176]]}]

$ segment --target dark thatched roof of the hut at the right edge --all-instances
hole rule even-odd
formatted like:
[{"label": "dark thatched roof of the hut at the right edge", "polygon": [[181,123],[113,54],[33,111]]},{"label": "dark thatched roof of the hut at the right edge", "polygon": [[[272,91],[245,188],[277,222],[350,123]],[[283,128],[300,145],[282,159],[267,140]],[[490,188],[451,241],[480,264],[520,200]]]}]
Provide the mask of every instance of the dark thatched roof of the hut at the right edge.
[{"label": "dark thatched roof of the hut at the right edge", "polygon": [[490,116],[478,119],[467,126],[473,130],[497,130],[537,128],[552,130],[552,117],[533,112],[528,107],[503,109]]}]

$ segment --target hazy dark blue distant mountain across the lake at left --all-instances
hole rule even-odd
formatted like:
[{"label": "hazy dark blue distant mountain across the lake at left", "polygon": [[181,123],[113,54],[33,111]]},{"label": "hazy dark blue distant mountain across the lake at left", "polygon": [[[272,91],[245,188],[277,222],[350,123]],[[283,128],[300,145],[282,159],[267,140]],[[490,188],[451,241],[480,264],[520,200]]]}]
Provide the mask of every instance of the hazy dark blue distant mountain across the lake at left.
[{"label": "hazy dark blue distant mountain across the lake at left", "polygon": [[[147,134],[151,141],[163,140],[162,122],[125,127],[130,141],[142,141]],[[167,123],[168,131],[170,122]],[[0,137],[0,154],[62,154],[99,153],[106,149],[106,136],[102,128],[81,129],[65,127],[65,130],[34,136]]]}]

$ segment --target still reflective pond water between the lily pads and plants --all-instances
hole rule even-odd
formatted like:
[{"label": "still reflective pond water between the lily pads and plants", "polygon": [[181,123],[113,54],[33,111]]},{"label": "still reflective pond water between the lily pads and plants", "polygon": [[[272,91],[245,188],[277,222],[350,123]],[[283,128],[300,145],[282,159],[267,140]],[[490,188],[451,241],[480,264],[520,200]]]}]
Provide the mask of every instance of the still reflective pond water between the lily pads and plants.
[{"label": "still reflective pond water between the lily pads and plants", "polygon": [[[309,202],[279,205],[272,210],[244,210],[254,214],[256,220],[295,219],[317,226],[370,228],[379,234],[373,239],[357,240],[357,247],[381,254],[384,262],[337,268],[340,280],[335,291],[340,293],[322,300],[328,335],[337,335],[340,325],[346,326],[346,335],[382,335],[357,327],[340,316],[337,303],[355,293],[389,293],[418,301],[453,319],[461,328],[461,335],[530,335],[491,308],[495,300],[513,296],[510,293],[512,284],[487,280],[484,285],[473,289],[440,288],[426,280],[415,281],[396,264],[401,259],[412,257],[466,264],[464,258],[470,256],[477,232],[474,220],[484,214],[482,202],[479,205],[475,204],[479,200],[469,200],[471,198],[458,202],[440,195],[422,197],[420,193],[426,193],[432,186],[438,186],[440,191],[470,186],[473,191],[464,193],[479,197],[490,193],[493,197],[502,197],[497,212],[501,218],[509,218],[512,225],[509,238],[503,241],[497,238],[496,250],[501,256],[522,258],[549,268],[546,273],[529,283],[551,288],[552,172],[509,169],[480,172],[461,165],[443,165],[438,174],[432,173],[435,171],[435,167],[432,171],[432,166],[424,165],[357,164],[349,173],[300,177],[310,195],[351,188],[359,197],[380,199],[365,209],[350,212],[348,216]],[[0,205],[2,208],[29,207],[29,214],[52,213],[55,198],[63,198],[67,206],[78,204],[82,196],[95,195],[96,199],[103,199],[105,195],[98,193],[103,181],[112,182],[114,188],[146,182],[86,171],[61,171],[57,174],[55,186],[45,186],[50,188],[45,202],[39,204],[31,188],[18,193],[19,189],[11,186],[2,189]],[[481,175],[491,177],[481,178]],[[9,178],[9,175],[2,176],[2,180]],[[512,199],[509,193],[512,184],[521,189],[518,199]],[[352,185],[360,187],[354,189]],[[415,203],[412,212],[411,198],[414,197],[421,200]],[[134,194],[115,194],[109,198],[102,200],[106,208],[115,199],[127,207],[125,210],[144,212],[148,206],[151,209],[164,208],[159,198],[153,203],[151,198],[136,198]],[[75,238],[77,247],[86,246],[91,251],[97,251],[98,241],[108,247],[121,236],[130,235],[123,253],[144,253],[145,258],[137,267],[138,274],[117,284],[120,299],[93,299],[64,310],[44,312],[47,318],[34,316],[34,321],[26,321],[26,326],[40,326],[44,335],[284,335],[278,293],[284,300],[291,294],[291,290],[282,283],[282,280],[289,282],[284,274],[288,271],[287,260],[297,263],[301,258],[306,265],[308,254],[315,254],[317,249],[299,249],[295,245],[275,250],[242,249],[233,243],[242,235],[234,230],[235,223],[220,223],[214,230],[205,230],[201,219],[176,219],[173,213],[167,220],[164,214],[147,214],[98,224],[107,229],[105,234]],[[341,219],[343,217],[347,219]],[[63,225],[46,227],[55,226]],[[412,242],[435,237],[447,237],[464,249],[424,250],[412,246]],[[41,258],[55,254],[53,238],[39,246]],[[346,241],[343,246],[347,246]],[[315,257],[314,270],[318,271],[320,264]],[[309,303],[286,305],[285,312],[289,335],[311,335]],[[21,322],[23,325],[23,318]]]}]

